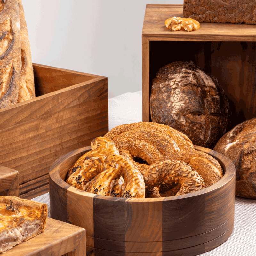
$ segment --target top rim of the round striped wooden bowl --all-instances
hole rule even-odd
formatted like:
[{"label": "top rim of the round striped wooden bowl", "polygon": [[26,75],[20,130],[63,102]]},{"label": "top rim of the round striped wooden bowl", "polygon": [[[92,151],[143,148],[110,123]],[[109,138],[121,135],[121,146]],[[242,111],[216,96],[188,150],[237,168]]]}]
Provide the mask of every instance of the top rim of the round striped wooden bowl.
[{"label": "top rim of the round striped wooden bowl", "polygon": [[[88,151],[91,149],[91,146],[87,146],[84,148],[78,148],[76,150],[73,150],[61,157],[59,157],[50,167],[50,171],[49,171],[49,177],[52,179],[53,182],[55,182],[57,185],[59,185],[61,188],[65,189],[65,190],[69,190],[70,192],[72,191],[73,193],[79,193],[79,194],[83,194],[84,196],[89,196],[89,197],[97,197],[97,199],[104,199],[104,200],[114,200],[114,201],[131,201],[131,202],[159,202],[159,201],[169,201],[169,200],[178,200],[178,199],[182,199],[182,198],[188,198],[191,197],[193,198],[194,196],[197,195],[202,195],[202,194],[207,194],[207,193],[215,193],[220,187],[227,185],[227,183],[229,183],[235,176],[235,166],[234,164],[231,162],[230,159],[228,159],[226,156],[208,149],[208,148],[204,148],[204,147],[200,147],[200,146],[195,146],[196,150],[200,150],[200,151],[207,151],[208,154],[210,154],[212,157],[214,157],[216,160],[218,160],[218,162],[220,163],[221,167],[225,167],[224,169],[224,175],[223,177],[216,182],[215,184],[201,189],[199,191],[195,191],[193,193],[188,193],[185,195],[179,195],[179,196],[169,196],[169,197],[160,197],[160,198],[120,198],[120,197],[112,197],[112,196],[102,196],[102,195],[96,195],[90,192],[86,192],[86,191],[82,191],[80,189],[74,188],[73,186],[69,185],[68,183],[66,183],[64,180],[62,180],[62,178],[60,177],[59,174],[59,167],[61,166],[61,164],[68,160],[70,157],[73,157],[75,155],[81,155],[82,156],[82,152],[83,151]],[[84,154],[84,153],[83,153]],[[214,156],[215,155],[215,156]],[[217,157],[218,156],[218,157]],[[226,164],[224,164],[226,163]],[[228,168],[226,168],[228,166]],[[55,175],[53,175],[55,174]],[[54,177],[55,176],[55,177]]]}]

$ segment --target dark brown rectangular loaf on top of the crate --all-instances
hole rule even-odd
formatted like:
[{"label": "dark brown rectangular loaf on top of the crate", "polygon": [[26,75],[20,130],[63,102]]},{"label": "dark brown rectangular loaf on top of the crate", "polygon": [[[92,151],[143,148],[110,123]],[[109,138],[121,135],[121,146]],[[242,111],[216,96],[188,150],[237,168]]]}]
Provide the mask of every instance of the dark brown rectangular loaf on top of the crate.
[{"label": "dark brown rectangular loaf on top of the crate", "polygon": [[183,16],[199,22],[256,24],[252,0],[184,0]]}]

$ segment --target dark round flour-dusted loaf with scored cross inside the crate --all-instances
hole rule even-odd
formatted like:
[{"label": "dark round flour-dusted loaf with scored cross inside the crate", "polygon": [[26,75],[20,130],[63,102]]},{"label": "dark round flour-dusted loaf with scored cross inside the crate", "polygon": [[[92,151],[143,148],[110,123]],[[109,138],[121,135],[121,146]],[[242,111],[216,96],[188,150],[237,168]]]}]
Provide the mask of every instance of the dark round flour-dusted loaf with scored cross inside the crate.
[{"label": "dark round flour-dusted loaf with scored cross inside the crate", "polygon": [[176,61],[153,79],[150,115],[153,122],[186,134],[194,145],[213,148],[225,134],[231,112],[215,76],[193,61]]}]

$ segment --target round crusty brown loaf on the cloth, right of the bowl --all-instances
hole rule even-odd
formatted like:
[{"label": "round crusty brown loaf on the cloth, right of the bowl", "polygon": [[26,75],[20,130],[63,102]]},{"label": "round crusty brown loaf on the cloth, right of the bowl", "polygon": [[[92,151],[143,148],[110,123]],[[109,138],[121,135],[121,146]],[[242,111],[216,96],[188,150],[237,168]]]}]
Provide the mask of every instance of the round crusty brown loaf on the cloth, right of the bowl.
[{"label": "round crusty brown loaf on the cloth, right of the bowl", "polygon": [[214,150],[236,167],[236,195],[256,199],[256,118],[236,125],[220,138]]}]

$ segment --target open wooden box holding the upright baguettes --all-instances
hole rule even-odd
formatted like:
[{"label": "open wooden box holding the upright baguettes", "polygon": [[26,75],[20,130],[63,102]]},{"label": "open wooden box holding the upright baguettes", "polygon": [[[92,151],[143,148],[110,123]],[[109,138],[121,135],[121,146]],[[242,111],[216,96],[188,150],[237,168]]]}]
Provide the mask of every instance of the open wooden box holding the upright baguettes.
[{"label": "open wooden box holding the upright baguettes", "polygon": [[19,172],[20,197],[49,191],[49,167],[108,132],[107,77],[33,64],[36,98],[0,109],[0,164]]}]

